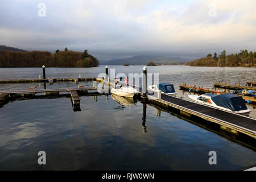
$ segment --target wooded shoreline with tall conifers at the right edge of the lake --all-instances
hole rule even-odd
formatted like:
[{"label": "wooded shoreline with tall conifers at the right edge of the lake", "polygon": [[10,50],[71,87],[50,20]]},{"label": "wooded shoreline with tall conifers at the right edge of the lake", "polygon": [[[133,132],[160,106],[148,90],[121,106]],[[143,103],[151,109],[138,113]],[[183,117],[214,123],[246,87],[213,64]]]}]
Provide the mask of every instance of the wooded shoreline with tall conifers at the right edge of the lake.
[{"label": "wooded shoreline with tall conifers at the right edge of the lake", "polygon": [[183,65],[192,67],[256,67],[256,52],[248,52],[246,49],[241,50],[239,53],[232,53],[226,55],[226,51],[222,51],[219,56],[214,52],[209,53],[206,57],[188,61]]}]

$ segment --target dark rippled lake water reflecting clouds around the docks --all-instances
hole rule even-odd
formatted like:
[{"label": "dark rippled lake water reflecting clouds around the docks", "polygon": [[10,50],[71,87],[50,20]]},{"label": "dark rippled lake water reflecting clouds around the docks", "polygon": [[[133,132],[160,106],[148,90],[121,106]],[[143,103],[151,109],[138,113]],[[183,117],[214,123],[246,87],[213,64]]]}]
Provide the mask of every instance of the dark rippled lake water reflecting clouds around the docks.
[{"label": "dark rippled lake water reflecting clouds around the docks", "polygon": [[[142,73],[143,66],[115,68],[115,73]],[[159,82],[175,85],[177,97],[183,81],[213,87],[214,81],[256,80],[256,68],[187,66],[147,67],[159,73]],[[46,68],[48,78],[97,77],[105,67]],[[42,68],[0,68],[0,79],[38,78]],[[82,82],[92,86],[92,82]],[[43,88],[43,84],[0,84],[0,90]],[[77,87],[74,82],[46,84],[47,88]],[[221,137],[191,122],[141,102],[121,105],[112,96],[82,96],[81,111],[71,100],[17,100],[0,108],[0,169],[116,169],[116,170],[236,170],[256,163],[248,147]],[[145,108],[146,107],[146,108]],[[252,106],[250,117],[256,118]],[[146,119],[143,119],[146,112]],[[160,115],[159,115],[160,113]],[[146,126],[143,127],[143,126]],[[39,166],[38,151],[46,151],[47,164]],[[209,165],[209,151],[217,152],[217,165]]]}]

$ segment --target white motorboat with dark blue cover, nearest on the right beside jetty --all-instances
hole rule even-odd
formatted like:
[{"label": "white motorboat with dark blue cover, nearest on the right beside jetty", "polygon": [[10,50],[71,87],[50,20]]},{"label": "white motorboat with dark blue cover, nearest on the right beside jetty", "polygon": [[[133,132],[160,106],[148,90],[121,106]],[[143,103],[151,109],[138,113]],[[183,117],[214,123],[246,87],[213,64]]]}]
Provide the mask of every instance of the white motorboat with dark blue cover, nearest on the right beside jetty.
[{"label": "white motorboat with dark blue cover, nearest on the right beside jetty", "polygon": [[206,93],[201,96],[188,95],[192,101],[236,114],[249,115],[250,111],[241,96],[232,93],[213,94]]}]

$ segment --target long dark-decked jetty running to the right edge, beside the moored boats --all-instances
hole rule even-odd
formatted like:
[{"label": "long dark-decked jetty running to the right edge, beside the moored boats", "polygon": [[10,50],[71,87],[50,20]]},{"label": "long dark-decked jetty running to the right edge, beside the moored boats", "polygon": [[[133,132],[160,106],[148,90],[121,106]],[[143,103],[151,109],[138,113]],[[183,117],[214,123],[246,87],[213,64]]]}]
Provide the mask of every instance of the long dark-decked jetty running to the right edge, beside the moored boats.
[{"label": "long dark-decked jetty running to the right edge, beside the moored boats", "polygon": [[248,135],[256,139],[256,119],[246,117],[239,114],[229,113],[213,107],[197,104],[192,101],[181,98],[161,94],[161,99],[149,96],[148,102],[153,104],[171,107],[178,110],[180,114],[191,117],[196,115],[209,122],[214,122],[220,125],[221,129],[238,135],[239,133]]}]

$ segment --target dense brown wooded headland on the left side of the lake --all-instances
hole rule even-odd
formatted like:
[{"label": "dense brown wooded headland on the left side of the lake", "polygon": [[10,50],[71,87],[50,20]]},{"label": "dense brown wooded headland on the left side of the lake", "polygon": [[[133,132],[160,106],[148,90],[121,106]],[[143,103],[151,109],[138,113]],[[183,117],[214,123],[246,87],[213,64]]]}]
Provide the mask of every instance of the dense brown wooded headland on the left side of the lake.
[{"label": "dense brown wooded headland on the left side of the lake", "polygon": [[88,53],[64,51],[57,49],[55,53],[48,51],[24,51],[18,48],[0,46],[0,67],[1,68],[22,68],[22,67],[97,67],[100,63]]}]

